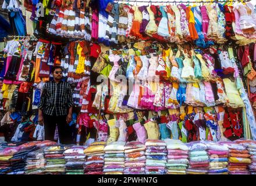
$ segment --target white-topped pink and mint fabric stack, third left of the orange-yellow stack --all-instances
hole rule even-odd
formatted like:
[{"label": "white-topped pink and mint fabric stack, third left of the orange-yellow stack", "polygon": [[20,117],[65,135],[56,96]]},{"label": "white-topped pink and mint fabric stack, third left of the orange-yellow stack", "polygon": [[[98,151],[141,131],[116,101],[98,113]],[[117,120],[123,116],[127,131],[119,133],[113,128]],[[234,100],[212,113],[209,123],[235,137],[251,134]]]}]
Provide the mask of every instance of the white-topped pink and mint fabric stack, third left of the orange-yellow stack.
[{"label": "white-topped pink and mint fabric stack, third left of the orange-yellow stack", "polygon": [[165,143],[168,151],[167,174],[186,174],[189,148],[180,140],[166,139]]}]

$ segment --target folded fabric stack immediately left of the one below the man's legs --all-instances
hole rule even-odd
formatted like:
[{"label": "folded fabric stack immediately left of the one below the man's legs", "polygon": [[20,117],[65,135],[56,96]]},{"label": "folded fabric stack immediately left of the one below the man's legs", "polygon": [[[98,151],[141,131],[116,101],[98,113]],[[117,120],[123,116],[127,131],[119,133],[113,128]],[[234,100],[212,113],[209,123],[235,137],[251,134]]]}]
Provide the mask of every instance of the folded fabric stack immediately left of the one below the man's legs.
[{"label": "folded fabric stack immediately left of the one below the man's legs", "polygon": [[27,155],[26,174],[44,174],[45,166],[44,148],[32,151]]}]

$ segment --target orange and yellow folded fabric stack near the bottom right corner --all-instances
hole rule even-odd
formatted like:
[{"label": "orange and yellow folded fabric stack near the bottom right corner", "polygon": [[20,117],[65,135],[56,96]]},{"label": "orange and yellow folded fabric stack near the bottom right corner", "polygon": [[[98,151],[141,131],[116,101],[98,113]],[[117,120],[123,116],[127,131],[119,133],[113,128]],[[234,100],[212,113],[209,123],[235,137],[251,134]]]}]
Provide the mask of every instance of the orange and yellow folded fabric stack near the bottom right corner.
[{"label": "orange and yellow folded fabric stack near the bottom right corner", "polygon": [[250,154],[246,146],[234,142],[221,142],[229,148],[229,174],[250,174],[248,165],[251,163]]}]

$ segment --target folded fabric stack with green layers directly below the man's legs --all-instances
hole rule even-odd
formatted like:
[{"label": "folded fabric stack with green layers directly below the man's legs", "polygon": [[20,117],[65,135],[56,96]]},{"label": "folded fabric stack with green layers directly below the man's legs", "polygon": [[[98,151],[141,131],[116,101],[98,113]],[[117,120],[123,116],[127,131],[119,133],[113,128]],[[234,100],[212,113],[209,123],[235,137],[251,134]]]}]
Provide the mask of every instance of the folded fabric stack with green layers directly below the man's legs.
[{"label": "folded fabric stack with green layers directly below the man's legs", "polygon": [[66,160],[63,152],[67,147],[63,145],[49,146],[44,149],[44,158],[46,159],[45,173],[63,174],[65,173]]}]

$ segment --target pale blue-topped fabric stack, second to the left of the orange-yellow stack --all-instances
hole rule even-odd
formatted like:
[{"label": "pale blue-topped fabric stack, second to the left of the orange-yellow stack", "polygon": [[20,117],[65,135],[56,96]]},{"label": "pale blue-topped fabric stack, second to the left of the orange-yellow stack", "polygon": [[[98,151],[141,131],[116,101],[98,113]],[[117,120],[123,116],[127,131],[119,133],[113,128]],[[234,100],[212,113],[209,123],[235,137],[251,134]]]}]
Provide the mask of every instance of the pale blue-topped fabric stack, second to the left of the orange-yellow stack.
[{"label": "pale blue-topped fabric stack, second to the left of the orange-yellow stack", "polygon": [[209,168],[209,157],[207,145],[200,141],[193,141],[186,144],[189,148],[189,169],[187,174],[207,174]]}]

